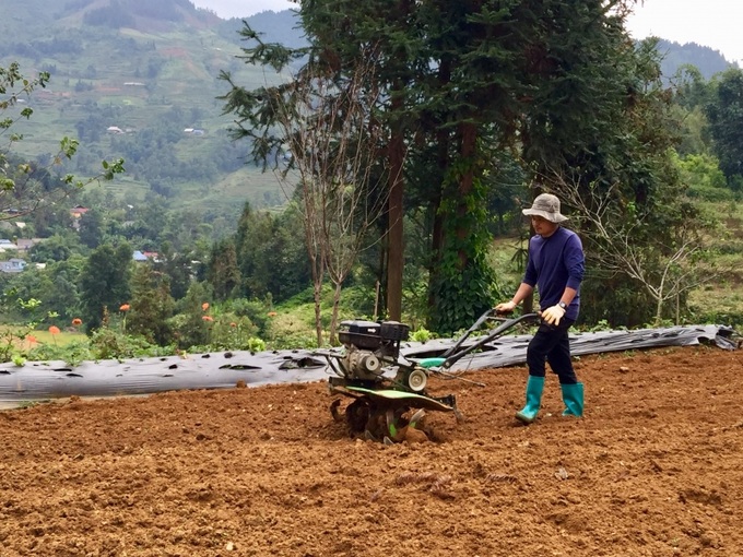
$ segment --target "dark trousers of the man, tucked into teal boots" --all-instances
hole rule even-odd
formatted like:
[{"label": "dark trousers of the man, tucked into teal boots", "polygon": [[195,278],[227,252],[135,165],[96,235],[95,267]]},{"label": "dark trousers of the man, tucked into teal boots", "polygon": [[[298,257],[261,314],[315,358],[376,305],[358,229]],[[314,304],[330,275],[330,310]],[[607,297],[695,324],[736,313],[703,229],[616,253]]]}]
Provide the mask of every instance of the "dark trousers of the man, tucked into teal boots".
[{"label": "dark trousers of the man, tucked into teal boots", "polygon": [[567,330],[573,323],[571,319],[561,319],[557,327],[545,322],[539,325],[527,348],[527,366],[529,366],[530,376],[544,377],[546,375],[545,362],[549,362],[552,370],[559,377],[561,384],[578,382],[573,369],[570,343],[567,336]]}]

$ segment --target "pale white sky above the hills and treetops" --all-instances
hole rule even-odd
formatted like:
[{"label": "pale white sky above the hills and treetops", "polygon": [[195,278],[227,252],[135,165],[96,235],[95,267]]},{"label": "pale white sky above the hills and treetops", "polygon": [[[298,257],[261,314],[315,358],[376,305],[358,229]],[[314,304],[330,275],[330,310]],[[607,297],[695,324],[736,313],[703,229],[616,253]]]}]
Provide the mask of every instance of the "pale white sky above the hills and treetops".
[{"label": "pale white sky above the hills and treetops", "polygon": [[[280,12],[297,4],[288,0],[191,0],[220,17],[247,17]],[[627,31],[641,39],[650,35],[676,43],[696,43],[719,50],[729,62],[743,66],[743,2],[741,0],[638,0]]]}]

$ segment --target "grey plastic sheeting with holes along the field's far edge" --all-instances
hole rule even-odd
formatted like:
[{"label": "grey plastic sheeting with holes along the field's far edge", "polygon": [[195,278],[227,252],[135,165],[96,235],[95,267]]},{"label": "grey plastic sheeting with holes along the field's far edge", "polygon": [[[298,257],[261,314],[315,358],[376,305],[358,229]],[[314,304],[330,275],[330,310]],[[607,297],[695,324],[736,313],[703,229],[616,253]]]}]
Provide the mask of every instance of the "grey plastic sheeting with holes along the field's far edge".
[{"label": "grey plastic sheeting with holes along the field's far edge", "polygon": [[[504,335],[483,345],[451,366],[451,371],[507,367],[524,363],[531,335]],[[468,339],[460,349],[477,342]],[[456,340],[403,343],[401,357],[409,360],[439,356]],[[735,349],[733,331],[716,325],[673,327],[637,331],[603,331],[570,335],[575,356],[657,346],[712,344]],[[340,353],[340,349],[339,349]],[[187,357],[141,358],[84,362],[69,366],[63,362],[30,362],[24,366],[0,364],[0,404],[17,405],[76,396],[117,396],[151,394],[184,389],[225,389],[238,382],[246,386],[291,383],[326,379],[332,370],[323,356],[312,351],[221,352],[191,354]]]}]

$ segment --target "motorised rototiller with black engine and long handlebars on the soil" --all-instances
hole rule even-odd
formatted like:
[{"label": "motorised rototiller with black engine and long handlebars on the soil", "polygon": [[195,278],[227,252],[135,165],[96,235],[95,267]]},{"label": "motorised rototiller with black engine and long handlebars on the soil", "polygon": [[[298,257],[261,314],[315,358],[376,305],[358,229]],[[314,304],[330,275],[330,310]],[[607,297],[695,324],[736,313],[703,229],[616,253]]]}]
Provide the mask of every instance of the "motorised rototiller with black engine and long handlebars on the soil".
[{"label": "motorised rototiller with black engine and long handlebars on the soil", "polygon": [[[351,435],[391,442],[420,437],[420,423],[426,410],[451,412],[461,420],[453,394],[434,396],[426,391],[428,377],[433,374],[482,387],[483,383],[459,377],[449,368],[516,324],[538,318],[536,313],[528,313],[506,320],[496,317],[495,310],[488,310],[446,352],[421,359],[400,355],[400,344],[408,341],[410,334],[406,324],[397,321],[343,321],[339,331],[343,349],[318,353],[326,357],[334,372],[329,379],[331,394],[353,399],[344,411]],[[473,332],[492,320],[502,323],[464,346],[464,341]],[[334,400],[330,411],[337,420],[342,422],[340,405],[341,399]]]}]

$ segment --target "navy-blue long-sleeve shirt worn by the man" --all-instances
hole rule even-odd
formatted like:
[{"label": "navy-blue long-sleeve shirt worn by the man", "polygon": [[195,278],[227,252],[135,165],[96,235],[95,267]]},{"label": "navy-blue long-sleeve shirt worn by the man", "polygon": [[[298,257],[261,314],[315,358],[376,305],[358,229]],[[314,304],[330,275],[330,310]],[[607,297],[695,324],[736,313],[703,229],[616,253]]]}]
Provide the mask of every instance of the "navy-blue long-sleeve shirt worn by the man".
[{"label": "navy-blue long-sleeve shirt worn by the man", "polygon": [[547,238],[536,235],[529,240],[529,262],[523,282],[531,287],[536,286],[542,309],[557,304],[565,287],[574,288],[576,296],[567,307],[565,317],[576,320],[580,310],[580,283],[585,269],[580,238],[561,226]]}]

